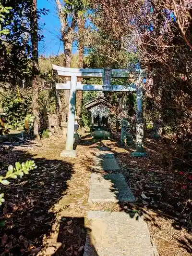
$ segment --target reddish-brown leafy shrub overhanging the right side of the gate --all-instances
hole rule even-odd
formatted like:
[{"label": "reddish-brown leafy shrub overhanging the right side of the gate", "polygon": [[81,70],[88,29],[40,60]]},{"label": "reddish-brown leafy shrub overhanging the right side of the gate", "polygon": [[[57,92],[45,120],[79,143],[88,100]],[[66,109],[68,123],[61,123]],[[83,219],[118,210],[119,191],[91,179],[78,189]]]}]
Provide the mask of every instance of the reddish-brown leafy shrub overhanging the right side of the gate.
[{"label": "reddish-brown leafy shrub overhanging the right side of the gate", "polygon": [[159,135],[171,136],[171,140],[174,137],[174,157],[168,161],[173,168],[180,162],[187,170],[192,165],[191,1],[131,0],[127,4],[124,0],[92,0],[92,4],[92,21],[107,39],[115,42],[112,49],[136,54],[140,67],[147,70],[146,125],[153,124]]}]

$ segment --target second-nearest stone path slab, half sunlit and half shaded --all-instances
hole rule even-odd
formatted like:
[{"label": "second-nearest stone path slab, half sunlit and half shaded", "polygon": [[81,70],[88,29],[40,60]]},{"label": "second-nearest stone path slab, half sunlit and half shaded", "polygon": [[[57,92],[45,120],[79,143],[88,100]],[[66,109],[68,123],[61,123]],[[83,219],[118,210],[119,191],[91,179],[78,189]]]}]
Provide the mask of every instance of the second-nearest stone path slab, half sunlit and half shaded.
[{"label": "second-nearest stone path slab, half sunlit and half shaded", "polygon": [[89,203],[124,201],[135,202],[135,197],[122,174],[91,174]]}]

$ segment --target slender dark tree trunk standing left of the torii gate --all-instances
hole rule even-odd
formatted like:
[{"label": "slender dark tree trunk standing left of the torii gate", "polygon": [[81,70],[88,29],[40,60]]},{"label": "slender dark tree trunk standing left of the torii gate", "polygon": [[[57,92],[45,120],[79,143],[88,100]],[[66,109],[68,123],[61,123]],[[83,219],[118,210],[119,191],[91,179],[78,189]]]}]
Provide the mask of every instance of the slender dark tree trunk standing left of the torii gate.
[{"label": "slender dark tree trunk standing left of the torii gate", "polygon": [[32,88],[33,88],[33,98],[32,98],[32,109],[34,120],[34,135],[36,139],[39,137],[39,104],[38,104],[38,74],[39,74],[39,65],[38,65],[38,25],[37,25],[37,7],[36,0],[33,0],[31,6],[31,44],[32,44]]}]

